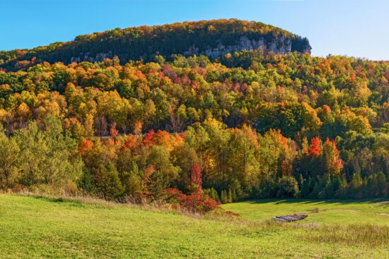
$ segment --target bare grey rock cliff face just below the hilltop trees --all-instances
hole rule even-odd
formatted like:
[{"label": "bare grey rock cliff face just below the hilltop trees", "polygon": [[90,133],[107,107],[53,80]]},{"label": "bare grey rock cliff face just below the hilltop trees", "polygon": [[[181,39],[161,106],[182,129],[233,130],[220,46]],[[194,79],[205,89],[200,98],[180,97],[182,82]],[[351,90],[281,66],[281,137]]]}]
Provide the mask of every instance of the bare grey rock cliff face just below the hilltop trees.
[{"label": "bare grey rock cliff face just below the hilltop trees", "polygon": [[[249,40],[248,37],[242,36],[238,40],[237,44],[225,46],[219,42],[217,47],[205,49],[200,52],[199,48],[192,45],[187,52],[184,52],[186,56],[192,55],[207,55],[212,59],[215,59],[218,56],[233,53],[233,52],[241,52],[243,49],[251,50],[251,49],[259,49],[263,48],[269,52],[274,52],[277,54],[288,54],[291,52],[291,41],[286,37],[279,37],[279,39],[272,40],[271,42],[266,42],[264,38],[260,38],[259,40]],[[310,49],[306,49],[306,52],[310,52]]]}]

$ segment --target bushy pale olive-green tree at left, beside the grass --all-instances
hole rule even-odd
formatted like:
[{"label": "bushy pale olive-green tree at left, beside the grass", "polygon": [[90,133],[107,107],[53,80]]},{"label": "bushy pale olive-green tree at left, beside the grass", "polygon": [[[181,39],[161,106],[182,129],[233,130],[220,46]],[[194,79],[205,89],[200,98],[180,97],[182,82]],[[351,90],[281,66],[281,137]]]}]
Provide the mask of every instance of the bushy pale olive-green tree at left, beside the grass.
[{"label": "bushy pale olive-green tree at left, beside the grass", "polygon": [[82,174],[83,162],[74,156],[77,144],[62,131],[61,122],[55,116],[47,116],[41,131],[36,123],[15,132],[20,148],[19,168],[21,183],[25,186],[50,185],[54,188],[76,184]]}]

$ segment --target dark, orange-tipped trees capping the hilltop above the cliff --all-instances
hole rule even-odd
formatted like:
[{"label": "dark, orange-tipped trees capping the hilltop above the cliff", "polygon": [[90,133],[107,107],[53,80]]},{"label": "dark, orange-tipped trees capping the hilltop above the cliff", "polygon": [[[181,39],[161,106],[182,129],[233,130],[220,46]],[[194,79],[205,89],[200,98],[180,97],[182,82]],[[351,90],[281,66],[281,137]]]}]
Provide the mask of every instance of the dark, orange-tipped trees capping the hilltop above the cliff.
[{"label": "dark, orange-tipped trees capping the hilltop above the cliff", "polygon": [[[306,38],[301,38],[272,25],[245,20],[202,20],[160,26],[141,26],[92,35],[79,35],[71,42],[55,42],[34,49],[15,49],[0,52],[0,68],[16,71],[47,61],[70,64],[77,61],[103,61],[118,56],[129,60],[153,61],[156,54],[166,59],[196,49],[194,54],[206,54],[222,44],[225,47],[239,43],[240,38],[263,39],[264,47],[277,44],[278,48],[291,44],[291,51],[310,52]],[[240,51],[242,49],[236,49]]]}]

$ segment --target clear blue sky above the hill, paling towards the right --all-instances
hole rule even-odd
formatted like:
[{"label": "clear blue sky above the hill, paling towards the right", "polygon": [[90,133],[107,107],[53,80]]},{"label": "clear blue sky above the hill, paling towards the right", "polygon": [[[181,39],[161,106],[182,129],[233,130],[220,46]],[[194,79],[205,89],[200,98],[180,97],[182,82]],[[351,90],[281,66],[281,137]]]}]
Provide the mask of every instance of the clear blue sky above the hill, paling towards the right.
[{"label": "clear blue sky above the hill, paling towards the right", "polygon": [[0,0],[0,50],[185,20],[238,18],[308,37],[314,56],[389,60],[388,0]]}]

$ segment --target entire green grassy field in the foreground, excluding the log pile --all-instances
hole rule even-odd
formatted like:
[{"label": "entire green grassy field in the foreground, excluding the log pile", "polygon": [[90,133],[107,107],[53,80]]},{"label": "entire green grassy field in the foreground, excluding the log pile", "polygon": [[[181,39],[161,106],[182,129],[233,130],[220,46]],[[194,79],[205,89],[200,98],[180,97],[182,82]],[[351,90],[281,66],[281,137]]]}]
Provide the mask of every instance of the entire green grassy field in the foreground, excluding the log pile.
[{"label": "entire green grassy field in the foreground, excluding the log pile", "polygon": [[[3,194],[0,258],[389,258],[389,205],[381,200],[223,207],[241,219]],[[308,219],[266,220],[294,212]]]}]

